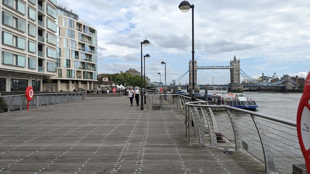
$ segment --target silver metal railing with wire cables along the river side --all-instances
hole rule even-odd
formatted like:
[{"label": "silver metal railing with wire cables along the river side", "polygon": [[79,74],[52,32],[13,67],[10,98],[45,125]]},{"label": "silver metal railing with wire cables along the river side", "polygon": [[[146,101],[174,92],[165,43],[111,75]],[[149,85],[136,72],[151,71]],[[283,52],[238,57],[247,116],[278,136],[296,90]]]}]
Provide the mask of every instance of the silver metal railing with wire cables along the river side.
[{"label": "silver metal railing with wire cables along the river side", "polygon": [[[297,137],[296,122],[259,112],[208,102],[180,94],[147,93],[149,110],[171,96],[175,110],[184,111],[186,138],[189,143],[220,150],[247,151],[265,165],[266,173],[292,173],[293,164],[304,164]],[[154,105],[155,104],[155,105]],[[158,108],[157,108],[158,109]],[[214,112],[220,111],[220,112]]]}]

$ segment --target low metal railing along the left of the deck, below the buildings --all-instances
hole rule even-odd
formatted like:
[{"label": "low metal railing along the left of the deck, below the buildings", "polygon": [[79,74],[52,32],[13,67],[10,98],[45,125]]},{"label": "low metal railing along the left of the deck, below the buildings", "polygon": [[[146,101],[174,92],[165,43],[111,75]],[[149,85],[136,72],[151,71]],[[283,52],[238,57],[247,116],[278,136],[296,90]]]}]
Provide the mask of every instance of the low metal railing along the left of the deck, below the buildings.
[{"label": "low metal railing along the left of the deck, below the buildings", "polygon": [[[84,100],[86,92],[71,93],[48,93],[34,94],[33,100],[29,102],[29,108],[37,108],[61,103],[76,102]],[[0,96],[0,113],[27,109],[25,95],[3,95]]]}]

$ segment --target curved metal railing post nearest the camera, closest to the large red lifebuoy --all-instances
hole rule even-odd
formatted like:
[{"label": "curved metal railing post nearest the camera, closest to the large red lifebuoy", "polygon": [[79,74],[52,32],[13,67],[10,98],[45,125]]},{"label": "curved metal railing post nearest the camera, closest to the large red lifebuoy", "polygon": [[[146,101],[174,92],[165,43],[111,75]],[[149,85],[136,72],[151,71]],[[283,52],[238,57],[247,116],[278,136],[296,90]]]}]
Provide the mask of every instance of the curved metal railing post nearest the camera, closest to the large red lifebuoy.
[{"label": "curved metal railing post nearest the camera, closest to the large red lifebuoy", "polygon": [[274,165],[271,149],[270,149],[268,141],[265,140],[265,134],[263,133],[263,129],[260,127],[260,124],[258,123],[257,119],[255,118],[255,115],[251,115],[251,117],[252,117],[252,120],[253,120],[255,127],[257,129],[260,142],[262,144],[264,159],[265,159],[266,173],[268,173],[268,174],[269,173],[277,173],[276,167]]}]

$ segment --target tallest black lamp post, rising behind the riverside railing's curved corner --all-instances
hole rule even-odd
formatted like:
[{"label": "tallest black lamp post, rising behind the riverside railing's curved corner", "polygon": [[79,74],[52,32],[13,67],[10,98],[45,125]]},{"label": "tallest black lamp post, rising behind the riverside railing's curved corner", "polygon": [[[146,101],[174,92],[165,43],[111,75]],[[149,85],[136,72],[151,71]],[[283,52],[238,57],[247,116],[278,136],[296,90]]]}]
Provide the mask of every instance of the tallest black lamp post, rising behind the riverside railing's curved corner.
[{"label": "tallest black lamp post, rising behind the riverside railing's curved corner", "polygon": [[193,97],[192,97],[192,101],[195,101],[196,98],[195,98],[195,94],[194,94],[194,91],[195,91],[195,74],[194,74],[194,70],[195,70],[195,61],[194,61],[194,4],[190,4],[188,1],[182,1],[179,5],[179,9],[180,11],[186,13],[189,11],[189,9],[192,9],[192,65],[193,65]]}]

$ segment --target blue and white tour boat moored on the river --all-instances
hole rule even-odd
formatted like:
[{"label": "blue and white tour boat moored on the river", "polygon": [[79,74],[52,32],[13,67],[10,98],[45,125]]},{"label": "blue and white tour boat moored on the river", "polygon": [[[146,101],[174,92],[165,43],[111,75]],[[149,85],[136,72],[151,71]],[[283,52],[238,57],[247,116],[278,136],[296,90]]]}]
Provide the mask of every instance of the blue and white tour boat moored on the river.
[{"label": "blue and white tour boat moored on the river", "polygon": [[245,94],[228,93],[224,95],[225,105],[237,107],[247,110],[256,110],[258,105],[251,98],[247,98]]}]

